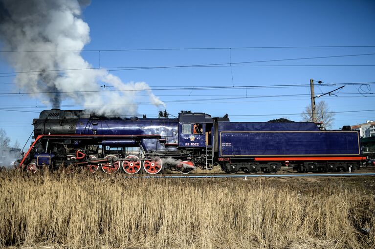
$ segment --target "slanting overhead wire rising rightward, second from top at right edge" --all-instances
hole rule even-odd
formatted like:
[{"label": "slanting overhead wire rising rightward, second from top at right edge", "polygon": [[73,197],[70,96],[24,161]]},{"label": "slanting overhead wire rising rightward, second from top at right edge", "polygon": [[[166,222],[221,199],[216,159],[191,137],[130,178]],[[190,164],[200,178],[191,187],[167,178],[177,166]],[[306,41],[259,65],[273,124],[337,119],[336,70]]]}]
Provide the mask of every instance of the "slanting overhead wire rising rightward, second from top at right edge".
[{"label": "slanting overhead wire rising rightward, second from top at right edge", "polygon": [[[51,73],[51,72],[66,72],[77,70],[92,70],[92,69],[106,69],[107,71],[128,71],[128,70],[145,70],[145,69],[165,69],[165,68],[190,68],[190,67],[208,67],[208,66],[233,66],[248,63],[261,63],[261,62],[276,62],[276,61],[290,61],[290,60],[305,60],[305,59],[321,59],[321,58],[336,58],[336,57],[356,57],[356,56],[370,56],[375,53],[369,54],[355,54],[355,55],[337,55],[337,56],[321,56],[321,57],[301,57],[301,58],[287,58],[287,59],[272,59],[272,60],[255,60],[255,61],[242,61],[231,63],[211,63],[211,64],[196,64],[196,65],[177,65],[177,66],[149,66],[149,67],[93,67],[93,68],[71,68],[71,69],[54,69],[54,70],[36,70],[36,71],[20,71],[20,72],[3,72],[5,74],[25,74],[25,73]],[[2,77],[2,76],[0,76]],[[9,76],[7,76],[9,77]]]}]

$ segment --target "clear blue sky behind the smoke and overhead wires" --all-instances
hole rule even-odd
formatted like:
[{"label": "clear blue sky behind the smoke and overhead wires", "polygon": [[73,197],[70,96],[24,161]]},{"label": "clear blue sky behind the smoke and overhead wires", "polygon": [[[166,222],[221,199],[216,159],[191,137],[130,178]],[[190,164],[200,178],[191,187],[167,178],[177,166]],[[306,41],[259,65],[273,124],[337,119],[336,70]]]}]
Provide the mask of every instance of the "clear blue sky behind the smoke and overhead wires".
[{"label": "clear blue sky behind the smoke and overhead wires", "polygon": [[[90,43],[84,50],[233,48],[200,50],[102,51],[100,67],[180,66],[251,62],[305,57],[375,53],[375,47],[253,48],[281,46],[374,46],[374,1],[98,1],[83,11],[90,27]],[[237,49],[236,49],[237,48]],[[82,52],[99,67],[98,52]],[[334,57],[240,64],[232,67],[184,67],[112,71],[124,82],[145,81],[167,104],[167,111],[226,113],[231,121],[268,121],[286,117],[299,121],[310,104],[309,79],[326,83],[375,82],[375,55]],[[247,66],[243,66],[247,65]],[[319,65],[319,66],[317,66]],[[0,72],[12,72],[0,57]],[[233,81],[232,81],[233,75]],[[0,93],[18,92],[13,77],[0,77]],[[306,84],[299,87],[253,88],[258,85]],[[171,87],[249,86],[220,90],[160,90]],[[337,86],[315,84],[315,94]],[[370,88],[367,88],[367,87]],[[359,85],[346,85],[337,96],[323,96],[334,112],[375,109],[374,94],[363,94]],[[375,85],[363,90],[374,93]],[[359,92],[362,92],[360,94]],[[305,96],[286,96],[305,95]],[[246,98],[247,96],[247,98]],[[254,97],[256,96],[256,97]],[[266,97],[268,96],[268,97]],[[278,96],[278,97],[269,97]],[[215,100],[209,100],[214,98]],[[158,109],[139,96],[139,113],[157,115]],[[62,109],[81,109],[63,102]],[[0,97],[0,127],[12,142],[23,144],[33,130],[32,119],[50,107],[27,95]],[[126,107],[125,107],[126,108]],[[31,113],[33,112],[33,113]],[[256,116],[249,116],[256,115]],[[374,120],[375,111],[337,113],[334,129]],[[28,147],[28,145],[26,146]]]}]

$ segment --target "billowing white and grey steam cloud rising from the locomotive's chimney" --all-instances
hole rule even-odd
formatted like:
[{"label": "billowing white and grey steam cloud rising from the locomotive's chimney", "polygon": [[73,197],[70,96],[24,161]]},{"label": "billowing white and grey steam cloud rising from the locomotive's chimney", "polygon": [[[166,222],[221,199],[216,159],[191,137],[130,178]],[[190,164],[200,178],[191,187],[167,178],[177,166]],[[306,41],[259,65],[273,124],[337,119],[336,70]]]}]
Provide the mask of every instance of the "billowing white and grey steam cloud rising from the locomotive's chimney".
[{"label": "billowing white and grey steam cloud rising from the locomotive's chimney", "polygon": [[[16,72],[31,72],[17,74],[17,86],[26,92],[45,92],[31,96],[53,108],[70,98],[98,114],[135,115],[139,93],[146,93],[153,105],[165,107],[145,82],[125,84],[105,69],[92,69],[81,57],[90,40],[88,24],[80,17],[87,4],[82,0],[0,0],[2,49],[19,51],[6,53]],[[89,69],[64,71],[83,68]],[[106,91],[101,84],[113,87]]]}]

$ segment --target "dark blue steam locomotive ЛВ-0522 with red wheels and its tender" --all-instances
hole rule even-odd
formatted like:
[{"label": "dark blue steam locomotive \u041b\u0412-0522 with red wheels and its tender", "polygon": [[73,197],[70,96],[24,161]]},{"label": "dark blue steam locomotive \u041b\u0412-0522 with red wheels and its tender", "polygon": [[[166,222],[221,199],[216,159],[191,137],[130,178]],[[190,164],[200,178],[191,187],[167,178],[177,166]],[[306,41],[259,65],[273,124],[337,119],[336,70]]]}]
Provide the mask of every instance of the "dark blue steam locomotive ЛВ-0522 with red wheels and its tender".
[{"label": "dark blue steam locomotive \u041b\u0412-0522 with red wheels and its tender", "polygon": [[35,139],[19,167],[36,172],[73,165],[89,172],[189,173],[221,166],[227,173],[354,170],[365,159],[350,126],[326,131],[312,122],[230,122],[228,115],[181,111],[159,118],[44,110],[33,120]]}]

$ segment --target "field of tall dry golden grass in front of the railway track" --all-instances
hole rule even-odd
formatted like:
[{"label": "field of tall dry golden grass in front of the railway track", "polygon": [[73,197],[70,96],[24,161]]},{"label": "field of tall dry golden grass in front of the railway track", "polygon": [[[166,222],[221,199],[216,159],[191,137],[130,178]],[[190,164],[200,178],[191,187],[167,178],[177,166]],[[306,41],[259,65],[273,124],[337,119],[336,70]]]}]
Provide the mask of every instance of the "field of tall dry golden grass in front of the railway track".
[{"label": "field of tall dry golden grass in front of the railway track", "polygon": [[0,248],[375,248],[374,190],[374,177],[0,172]]}]

